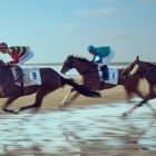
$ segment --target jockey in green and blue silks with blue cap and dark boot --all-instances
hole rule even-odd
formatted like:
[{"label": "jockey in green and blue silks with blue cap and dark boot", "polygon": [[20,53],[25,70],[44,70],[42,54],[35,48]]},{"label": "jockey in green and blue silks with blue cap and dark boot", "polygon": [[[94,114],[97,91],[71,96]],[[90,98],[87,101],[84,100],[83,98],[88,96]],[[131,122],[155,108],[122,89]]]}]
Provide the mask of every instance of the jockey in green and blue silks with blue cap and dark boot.
[{"label": "jockey in green and blue silks with blue cap and dark boot", "polygon": [[92,62],[96,62],[98,65],[98,70],[104,71],[104,79],[108,79],[108,69],[107,65],[111,61],[111,59],[115,56],[114,50],[111,50],[110,47],[88,47],[89,53],[94,56]]}]

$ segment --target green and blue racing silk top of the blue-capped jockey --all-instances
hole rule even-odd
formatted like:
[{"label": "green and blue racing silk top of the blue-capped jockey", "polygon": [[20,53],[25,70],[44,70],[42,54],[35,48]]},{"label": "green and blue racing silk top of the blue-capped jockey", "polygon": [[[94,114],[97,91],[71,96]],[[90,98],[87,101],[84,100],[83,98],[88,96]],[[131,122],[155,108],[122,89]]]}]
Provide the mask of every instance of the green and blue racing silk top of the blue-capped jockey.
[{"label": "green and blue racing silk top of the blue-capped jockey", "polygon": [[[103,64],[103,58],[107,57],[110,52],[110,47],[97,47],[95,48],[95,55],[91,61]],[[96,60],[96,58],[98,58],[98,60]]]}]

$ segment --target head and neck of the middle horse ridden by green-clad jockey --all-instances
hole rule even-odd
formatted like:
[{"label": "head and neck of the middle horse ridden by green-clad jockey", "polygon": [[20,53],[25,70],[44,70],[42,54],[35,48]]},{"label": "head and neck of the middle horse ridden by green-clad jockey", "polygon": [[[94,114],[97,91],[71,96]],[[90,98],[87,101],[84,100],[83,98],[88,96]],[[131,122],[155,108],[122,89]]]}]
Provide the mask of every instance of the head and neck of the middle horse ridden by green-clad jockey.
[{"label": "head and neck of the middle horse ridden by green-clad jockey", "polygon": [[78,72],[82,75],[88,69],[89,70],[91,69],[90,66],[92,66],[92,64],[89,60],[87,60],[86,58],[81,58],[81,57],[78,57],[78,56],[70,55],[65,60],[60,72],[66,74],[70,69],[76,68],[78,70]]}]

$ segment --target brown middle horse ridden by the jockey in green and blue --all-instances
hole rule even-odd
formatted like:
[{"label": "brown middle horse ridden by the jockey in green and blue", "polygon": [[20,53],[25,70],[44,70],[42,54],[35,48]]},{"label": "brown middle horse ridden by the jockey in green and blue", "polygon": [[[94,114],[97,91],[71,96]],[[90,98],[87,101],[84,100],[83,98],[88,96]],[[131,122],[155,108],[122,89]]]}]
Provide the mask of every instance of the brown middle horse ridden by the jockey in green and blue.
[{"label": "brown middle horse ridden by the jockey in green and blue", "polygon": [[[137,88],[140,79],[137,76],[125,79],[121,76],[121,72],[123,72],[124,68],[118,69],[119,78],[118,78],[118,84],[117,85],[113,85],[113,84],[109,84],[109,82],[101,84],[101,81],[99,79],[99,75],[98,75],[97,64],[92,64],[89,60],[87,60],[86,58],[69,55],[67,57],[67,59],[65,60],[60,72],[66,74],[67,71],[69,71],[72,68],[75,68],[79,72],[79,75],[82,76],[82,81],[81,82],[85,86],[87,86],[87,87],[89,87],[94,90],[109,89],[109,88],[116,87],[117,85],[123,85],[126,92],[127,92],[126,94],[126,99],[127,100],[130,99],[133,94],[136,94],[137,96],[143,97],[142,92]],[[68,106],[70,104],[68,101],[68,98],[69,98],[71,92],[72,92],[72,90],[70,90],[69,94],[65,97],[64,101],[60,105],[60,108],[62,108],[65,106]],[[74,96],[74,99],[79,94],[77,92]]]}]

